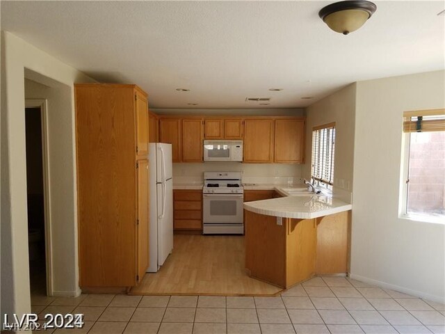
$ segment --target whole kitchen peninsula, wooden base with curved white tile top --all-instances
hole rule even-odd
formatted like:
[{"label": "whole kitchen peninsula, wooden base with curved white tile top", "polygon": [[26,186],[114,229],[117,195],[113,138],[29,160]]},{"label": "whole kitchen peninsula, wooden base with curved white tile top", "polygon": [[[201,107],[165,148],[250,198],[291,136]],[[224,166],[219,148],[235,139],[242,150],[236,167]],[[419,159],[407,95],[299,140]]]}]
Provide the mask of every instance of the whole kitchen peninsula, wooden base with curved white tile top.
[{"label": "whole kitchen peninsula, wooden base with curved white tile top", "polygon": [[245,202],[245,268],[289,288],[316,274],[348,272],[352,205],[298,189]]}]

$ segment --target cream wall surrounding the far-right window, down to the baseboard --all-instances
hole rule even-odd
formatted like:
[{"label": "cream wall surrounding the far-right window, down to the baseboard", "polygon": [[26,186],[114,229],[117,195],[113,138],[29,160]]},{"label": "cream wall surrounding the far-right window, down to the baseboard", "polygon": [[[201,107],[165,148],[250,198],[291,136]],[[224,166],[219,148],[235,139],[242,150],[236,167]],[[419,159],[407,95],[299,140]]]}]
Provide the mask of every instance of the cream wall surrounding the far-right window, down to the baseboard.
[{"label": "cream wall surrounding the far-right window, down to the baseboard", "polygon": [[403,111],[445,108],[445,72],[357,83],[351,276],[445,302],[445,225],[398,218]]}]

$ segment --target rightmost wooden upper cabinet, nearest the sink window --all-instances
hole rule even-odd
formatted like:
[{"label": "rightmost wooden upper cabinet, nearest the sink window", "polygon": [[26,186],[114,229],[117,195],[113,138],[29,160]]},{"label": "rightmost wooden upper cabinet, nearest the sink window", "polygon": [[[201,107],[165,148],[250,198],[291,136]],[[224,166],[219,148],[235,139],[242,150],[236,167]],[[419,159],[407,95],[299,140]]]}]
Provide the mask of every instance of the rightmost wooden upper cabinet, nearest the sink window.
[{"label": "rightmost wooden upper cabinet, nearest the sink window", "polygon": [[275,120],[275,162],[304,162],[305,120]]}]

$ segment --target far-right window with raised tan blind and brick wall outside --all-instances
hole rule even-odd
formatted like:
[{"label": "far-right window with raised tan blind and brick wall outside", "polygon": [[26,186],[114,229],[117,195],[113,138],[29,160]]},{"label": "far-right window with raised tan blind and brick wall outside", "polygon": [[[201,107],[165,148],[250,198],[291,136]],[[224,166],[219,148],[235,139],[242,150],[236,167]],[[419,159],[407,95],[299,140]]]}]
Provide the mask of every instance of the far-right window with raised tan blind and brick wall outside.
[{"label": "far-right window with raised tan blind and brick wall outside", "polygon": [[407,111],[403,215],[421,221],[445,218],[445,109]]}]

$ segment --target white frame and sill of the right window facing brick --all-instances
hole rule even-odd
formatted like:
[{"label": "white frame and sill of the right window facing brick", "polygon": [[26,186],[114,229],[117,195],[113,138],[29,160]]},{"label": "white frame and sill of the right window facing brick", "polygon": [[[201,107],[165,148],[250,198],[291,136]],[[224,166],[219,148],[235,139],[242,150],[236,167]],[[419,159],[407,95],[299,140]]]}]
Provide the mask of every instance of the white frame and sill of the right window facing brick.
[{"label": "white frame and sill of the right window facing brick", "polygon": [[[441,109],[438,109],[441,110]],[[445,111],[445,109],[442,109]],[[403,129],[402,129],[403,131]],[[401,180],[399,192],[398,218],[409,221],[420,221],[425,223],[438,223],[445,225],[442,217],[431,216],[428,214],[408,213],[408,172],[410,169],[410,145],[411,132],[402,132],[402,155],[401,155]]]}]

